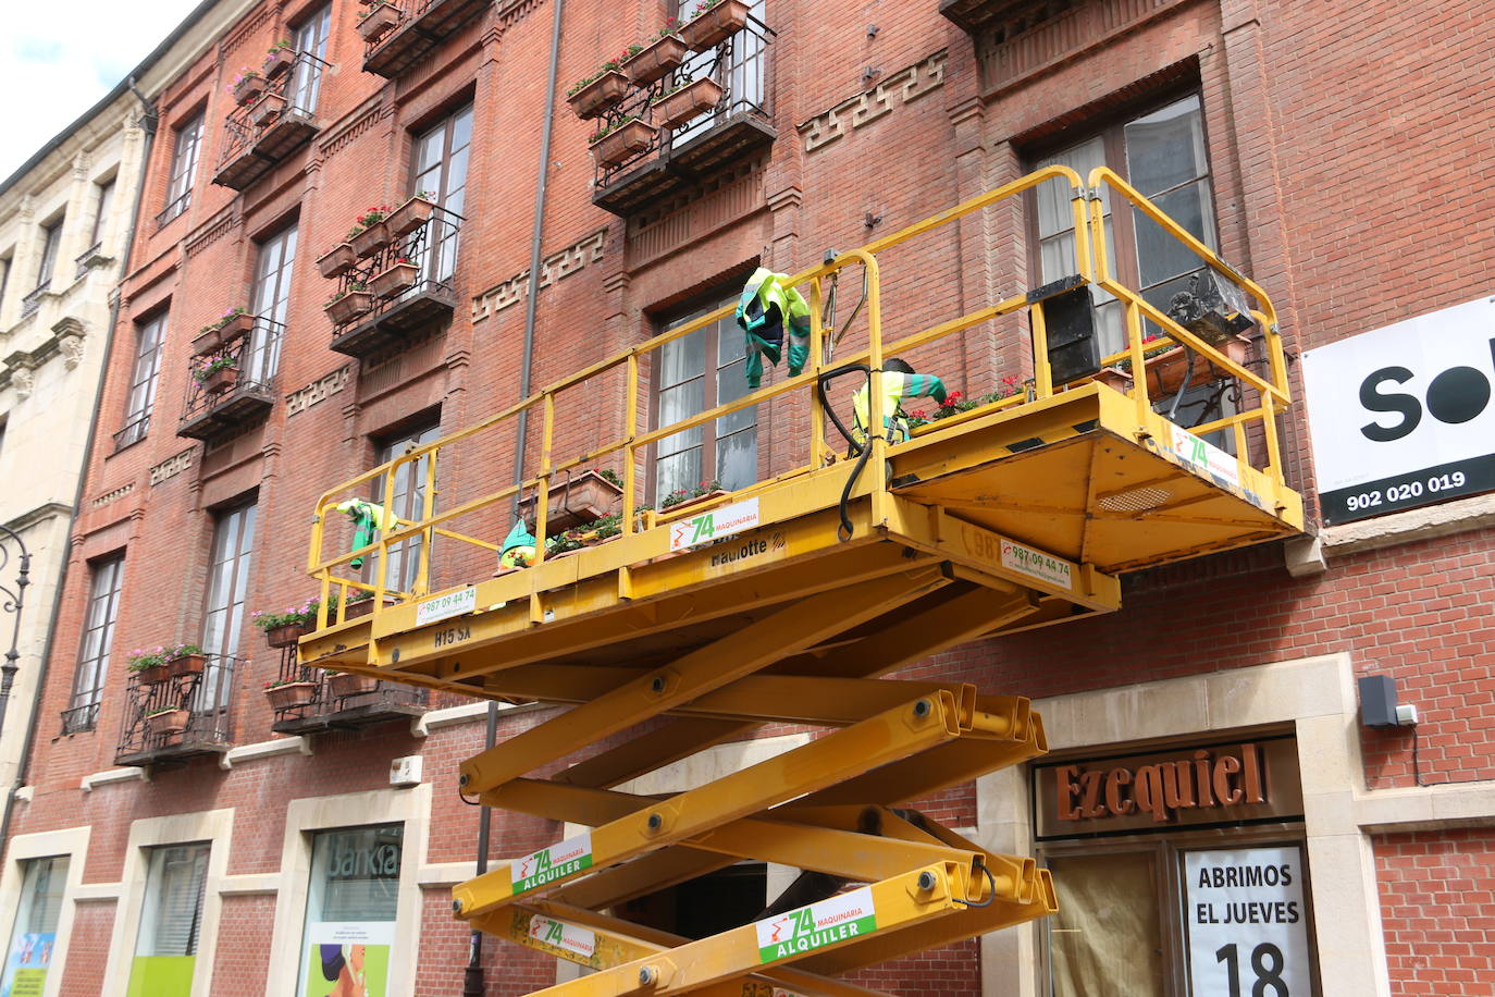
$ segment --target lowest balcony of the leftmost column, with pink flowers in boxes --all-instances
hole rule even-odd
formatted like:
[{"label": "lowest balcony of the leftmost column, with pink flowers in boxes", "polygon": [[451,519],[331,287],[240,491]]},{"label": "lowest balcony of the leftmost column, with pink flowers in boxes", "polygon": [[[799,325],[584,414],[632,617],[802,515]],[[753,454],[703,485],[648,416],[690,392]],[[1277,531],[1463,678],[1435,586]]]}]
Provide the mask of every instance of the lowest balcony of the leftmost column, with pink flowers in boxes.
[{"label": "lowest balcony of the leftmost column, with pink flowers in boxes", "polygon": [[[142,682],[139,673],[132,674],[114,764],[144,767],[226,752],[233,738],[229,706],[235,665],[233,658],[212,656],[199,674],[160,682]],[[167,710],[182,710],[178,717],[185,723],[176,728],[160,720]]]}]

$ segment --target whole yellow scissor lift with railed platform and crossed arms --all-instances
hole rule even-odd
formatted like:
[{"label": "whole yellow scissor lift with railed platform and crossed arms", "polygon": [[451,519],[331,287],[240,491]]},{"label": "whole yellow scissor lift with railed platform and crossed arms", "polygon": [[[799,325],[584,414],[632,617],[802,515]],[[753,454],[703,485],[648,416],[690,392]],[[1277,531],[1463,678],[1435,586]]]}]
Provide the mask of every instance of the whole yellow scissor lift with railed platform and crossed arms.
[{"label": "whole yellow scissor lift with railed platform and crossed arms", "polygon": [[[897,339],[882,330],[879,254],[958,218],[1067,184],[1075,277],[1121,302],[1127,345],[1108,362],[1144,371],[1144,318],[1190,362],[1241,386],[1236,411],[1186,430],[1154,411],[1148,378],[1121,390],[1085,377],[1054,384],[1045,303],[1020,294]],[[1260,372],[1215,351],[1120,284],[1105,254],[1102,188],[1135,209],[1253,299]],[[866,341],[828,360],[822,327],[828,280],[860,269]],[[691,419],[644,427],[640,365],[664,344],[727,309],[597,363],[466,430],[417,447],[321,496],[309,570],[321,581],[318,631],[300,643],[306,667],[501,701],[571,709],[460,767],[463,794],[486,804],[589,828],[454,889],[475,928],[580,963],[595,973],[556,993],[867,994],[837,979],[858,967],[969,939],[1055,910],[1032,858],[996,855],[913,810],[909,801],[1045,752],[1027,700],[984,695],[957,682],[881,676],[939,650],[1117,608],[1117,572],[1296,534],[1302,504],[1283,483],[1277,416],[1287,378],[1266,294],[1233,272],[1115,173],[1081,179],[1052,166],[861,250],[798,274],[812,305],[810,365]],[[707,507],[637,510],[637,468],[665,436],[800,393],[848,365],[869,371],[876,411],[885,356],[1030,312],[1035,377],[1027,389],[930,423],[912,439],[873,436],[867,460],[837,456],[819,405],[804,463]],[[972,333],[973,335],[973,333]],[[1156,348],[1157,342],[1148,344]],[[1202,368],[1203,369],[1203,368]],[[866,381],[863,381],[866,383]],[[622,435],[559,454],[567,392],[620,392]],[[855,387],[846,378],[839,384]],[[437,510],[437,471],[460,448],[540,420],[538,472],[511,487]],[[1229,433],[1235,454],[1200,439]],[[475,451],[475,450],[474,450]],[[546,535],[550,492],[574,469],[620,468],[620,535],[573,556],[429,590],[432,543],[496,552],[480,522],[507,532],[519,493],[535,496]],[[465,466],[474,466],[472,460]],[[419,475],[420,519],[399,520],[374,544],[327,556],[333,507],[396,477]],[[450,484],[450,483],[449,483]],[[384,564],[419,543],[410,592],[383,571],[354,577],[354,558]],[[446,556],[446,555],[444,555]],[[492,564],[484,555],[484,564]],[[372,613],[350,619],[350,593]],[[329,613],[329,599],[335,610]],[[673,795],[617,791],[628,780],[765,723],[819,728],[768,761]],[[598,746],[591,753],[589,747]],[[537,773],[550,773],[538,776]],[[858,885],[756,922],[689,942],[610,910],[740,859],[779,862]],[[825,879],[822,879],[825,882]],[[822,889],[821,892],[828,892]],[[550,991],[546,991],[550,993]]]}]

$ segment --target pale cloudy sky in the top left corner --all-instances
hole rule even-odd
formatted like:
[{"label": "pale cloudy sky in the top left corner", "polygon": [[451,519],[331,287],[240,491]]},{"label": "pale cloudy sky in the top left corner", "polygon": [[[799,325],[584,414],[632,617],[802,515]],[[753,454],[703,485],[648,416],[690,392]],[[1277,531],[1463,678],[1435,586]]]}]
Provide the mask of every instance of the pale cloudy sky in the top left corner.
[{"label": "pale cloudy sky in the top left corner", "polygon": [[[9,6],[9,4],[7,4]],[[139,66],[197,0],[16,3],[0,33],[0,179]]]}]

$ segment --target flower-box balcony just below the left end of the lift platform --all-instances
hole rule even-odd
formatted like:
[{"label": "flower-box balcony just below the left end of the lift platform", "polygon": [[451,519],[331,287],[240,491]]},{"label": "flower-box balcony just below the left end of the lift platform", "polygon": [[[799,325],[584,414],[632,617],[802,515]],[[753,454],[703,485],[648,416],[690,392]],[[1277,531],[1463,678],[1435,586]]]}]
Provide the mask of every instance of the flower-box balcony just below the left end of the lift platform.
[{"label": "flower-box balcony just below the left end of the lift platform", "polygon": [[295,695],[284,695],[280,706],[272,701],[275,722],[271,729],[277,734],[353,729],[420,716],[429,700],[425,689],[303,667],[296,661],[295,647],[281,653],[280,679],[295,688]]}]

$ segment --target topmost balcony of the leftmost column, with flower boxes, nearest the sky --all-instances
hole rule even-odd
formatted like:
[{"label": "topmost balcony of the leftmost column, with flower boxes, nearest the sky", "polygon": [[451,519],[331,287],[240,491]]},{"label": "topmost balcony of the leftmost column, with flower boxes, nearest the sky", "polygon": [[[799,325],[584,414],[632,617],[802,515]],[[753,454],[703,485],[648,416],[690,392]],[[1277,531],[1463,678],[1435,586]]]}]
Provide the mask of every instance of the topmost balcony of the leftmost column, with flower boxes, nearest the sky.
[{"label": "topmost balcony of the leftmost column, with flower boxes, nearest the sky", "polygon": [[254,103],[235,108],[223,124],[224,143],[212,182],[245,190],[317,133],[312,115],[329,64],[298,52]]}]

